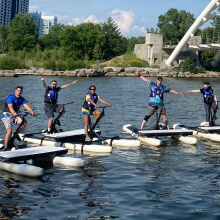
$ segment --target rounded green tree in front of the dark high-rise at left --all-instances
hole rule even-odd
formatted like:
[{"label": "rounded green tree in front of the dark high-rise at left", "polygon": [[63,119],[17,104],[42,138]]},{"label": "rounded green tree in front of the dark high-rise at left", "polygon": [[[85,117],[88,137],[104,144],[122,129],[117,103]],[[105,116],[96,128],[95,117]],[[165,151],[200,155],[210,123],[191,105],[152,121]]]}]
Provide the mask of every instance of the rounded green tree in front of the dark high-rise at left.
[{"label": "rounded green tree in front of the dark high-rise at left", "polygon": [[8,51],[27,50],[30,51],[37,44],[37,25],[30,14],[18,14],[11,22],[6,39]]}]

